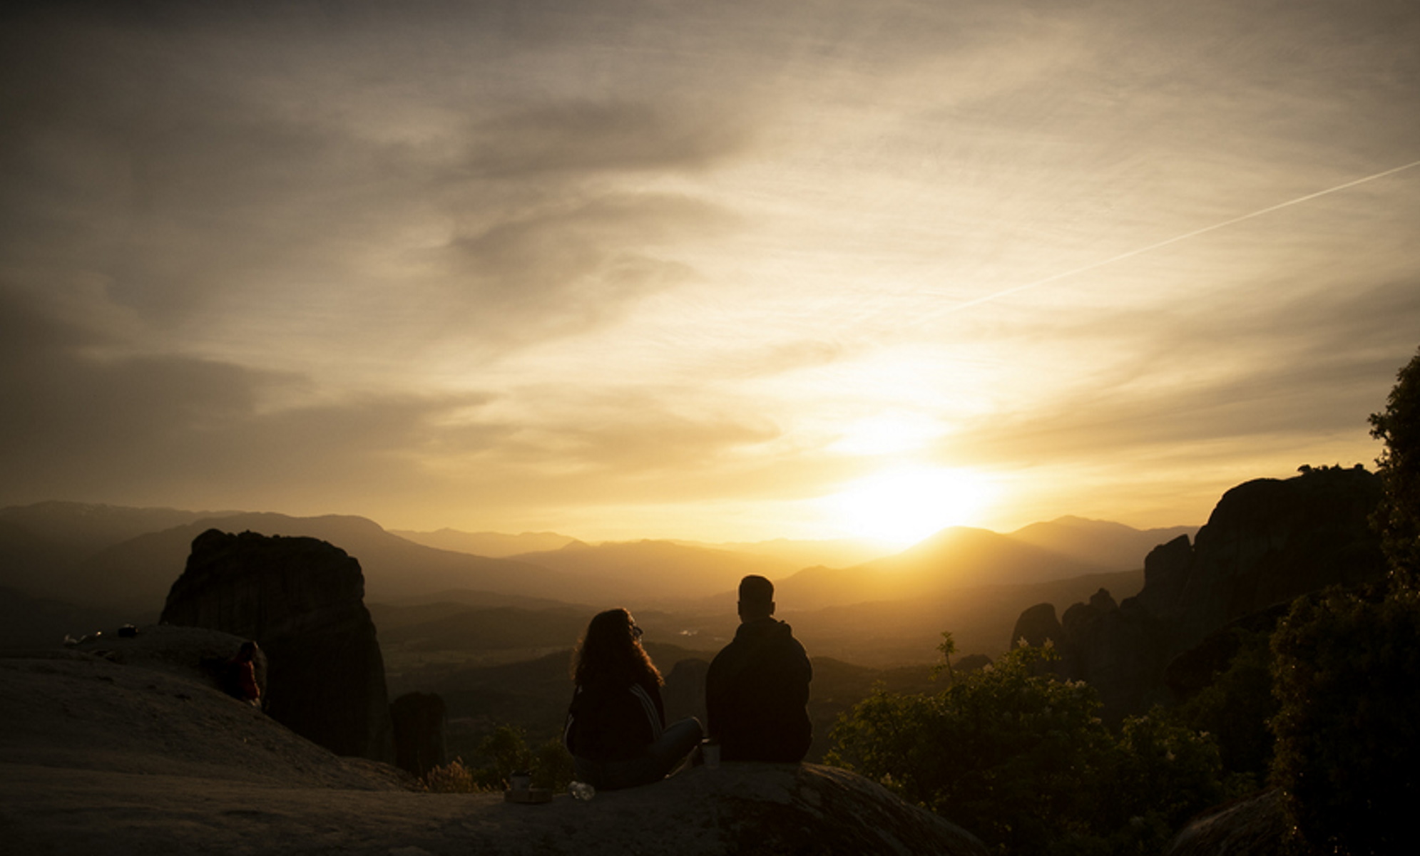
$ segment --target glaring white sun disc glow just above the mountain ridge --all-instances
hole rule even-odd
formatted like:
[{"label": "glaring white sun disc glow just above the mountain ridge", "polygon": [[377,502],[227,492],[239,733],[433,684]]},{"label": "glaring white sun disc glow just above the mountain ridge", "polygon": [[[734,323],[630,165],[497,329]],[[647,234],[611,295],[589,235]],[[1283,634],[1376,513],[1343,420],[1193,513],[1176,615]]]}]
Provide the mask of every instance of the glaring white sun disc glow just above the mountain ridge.
[{"label": "glaring white sun disc glow just above the mountain ridge", "polygon": [[909,547],[974,522],[994,494],[993,483],[971,470],[902,467],[861,478],[828,503],[845,532]]}]

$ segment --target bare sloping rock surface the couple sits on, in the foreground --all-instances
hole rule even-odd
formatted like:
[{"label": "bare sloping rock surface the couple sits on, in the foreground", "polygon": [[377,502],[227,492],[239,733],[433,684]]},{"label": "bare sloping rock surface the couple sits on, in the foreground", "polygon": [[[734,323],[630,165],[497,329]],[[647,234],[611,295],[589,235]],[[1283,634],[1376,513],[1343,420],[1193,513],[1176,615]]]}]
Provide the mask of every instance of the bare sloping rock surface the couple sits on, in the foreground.
[{"label": "bare sloping rock surface the couple sits on, in the foreground", "polygon": [[589,802],[420,794],[170,659],[114,650],[0,660],[0,830],[14,852],[985,853],[880,786],[808,764],[697,768]]}]

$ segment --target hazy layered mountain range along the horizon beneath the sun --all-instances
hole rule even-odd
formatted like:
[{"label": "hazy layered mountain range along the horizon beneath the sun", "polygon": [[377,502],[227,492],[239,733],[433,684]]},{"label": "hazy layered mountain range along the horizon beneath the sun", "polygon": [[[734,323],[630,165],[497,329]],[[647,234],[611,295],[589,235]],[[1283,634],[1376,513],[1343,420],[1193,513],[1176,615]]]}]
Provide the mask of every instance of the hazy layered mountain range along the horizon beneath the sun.
[{"label": "hazy layered mountain range along the horizon beneath the sun", "polygon": [[[596,609],[613,605],[633,608],[646,616],[643,622],[662,625],[670,635],[684,639],[704,635],[694,642],[709,646],[733,633],[738,579],[763,574],[778,586],[780,615],[792,618],[801,635],[816,637],[836,656],[875,662],[907,656],[906,652],[916,652],[917,660],[930,659],[930,640],[949,627],[957,627],[958,642],[964,642],[963,633],[966,639],[978,637],[971,627],[980,625],[980,639],[987,644],[988,625],[994,625],[994,637],[1001,635],[1001,626],[1011,623],[1000,620],[997,610],[1018,612],[1022,598],[1045,592],[1088,596],[1093,589],[1085,589],[1099,581],[1110,591],[1137,588],[1149,547],[1194,531],[1187,527],[1140,531],[1081,518],[1034,524],[1008,535],[956,527],[906,551],[861,561],[869,548],[852,542],[586,544],[555,532],[500,535],[453,529],[402,537],[351,515],[41,503],[0,510],[0,586],[11,589],[6,598],[4,639],[14,643],[41,635],[53,639],[55,632],[82,632],[87,629],[82,625],[60,627],[58,623],[94,622],[99,616],[116,622],[152,620],[182,574],[193,538],[207,528],[305,535],[345,549],[365,572],[366,602],[376,615],[375,605],[385,608],[386,620],[392,620],[396,608],[444,605],[442,615],[423,616],[443,620],[443,629],[430,626],[422,636],[409,636],[396,633],[393,623],[382,626],[389,646],[408,643],[427,649],[430,639],[467,637],[470,632],[459,625],[469,620],[470,610],[483,612],[486,619],[493,609],[518,610],[525,622],[547,609],[574,606],[581,616],[577,620],[585,620]],[[416,537],[446,545],[493,545],[504,555],[430,547],[412,539]],[[838,566],[795,564],[834,555],[845,561]],[[1137,583],[1130,582],[1133,578]],[[545,623],[528,626],[547,629]],[[561,627],[577,622],[554,623]],[[480,633],[466,642],[474,637]]]}]

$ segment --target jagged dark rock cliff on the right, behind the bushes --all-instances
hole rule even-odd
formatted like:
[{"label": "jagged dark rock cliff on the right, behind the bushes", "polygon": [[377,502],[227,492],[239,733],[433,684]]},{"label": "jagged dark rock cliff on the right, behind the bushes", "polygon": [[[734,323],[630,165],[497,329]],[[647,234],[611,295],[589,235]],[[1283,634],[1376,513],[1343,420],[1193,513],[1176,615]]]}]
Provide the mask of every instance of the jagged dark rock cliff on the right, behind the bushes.
[{"label": "jagged dark rock cliff on the right, behind the bushes", "polygon": [[1369,525],[1379,501],[1380,480],[1359,467],[1240,484],[1194,544],[1180,535],[1147,555],[1137,596],[1116,605],[1100,589],[1066,609],[1058,630],[1054,608],[1034,606],[1021,613],[1014,637],[1038,644],[1035,637],[1056,633],[1049,637],[1062,654],[1058,671],[1092,684],[1106,720],[1143,713],[1170,700],[1169,663],[1218,629],[1258,613],[1275,622],[1298,595],[1383,576]]}]

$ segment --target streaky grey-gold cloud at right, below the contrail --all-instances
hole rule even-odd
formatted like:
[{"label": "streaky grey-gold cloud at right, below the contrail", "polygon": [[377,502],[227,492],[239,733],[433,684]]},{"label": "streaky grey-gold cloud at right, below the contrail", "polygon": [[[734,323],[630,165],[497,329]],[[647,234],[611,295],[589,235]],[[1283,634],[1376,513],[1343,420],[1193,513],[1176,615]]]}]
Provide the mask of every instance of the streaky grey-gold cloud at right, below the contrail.
[{"label": "streaky grey-gold cloud at right, below the contrail", "polygon": [[1261,456],[1278,443],[1365,436],[1366,416],[1383,405],[1420,329],[1420,288],[1411,281],[1333,284],[1289,300],[1217,297],[1054,328],[1062,353],[1112,346],[1113,355],[1096,356],[1096,368],[1079,375],[1061,362],[1066,383],[1049,390],[1045,379],[1037,390],[1044,395],[1017,410],[1007,406],[950,447],[1020,463],[1217,443],[1251,443]]}]

